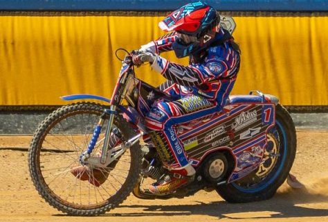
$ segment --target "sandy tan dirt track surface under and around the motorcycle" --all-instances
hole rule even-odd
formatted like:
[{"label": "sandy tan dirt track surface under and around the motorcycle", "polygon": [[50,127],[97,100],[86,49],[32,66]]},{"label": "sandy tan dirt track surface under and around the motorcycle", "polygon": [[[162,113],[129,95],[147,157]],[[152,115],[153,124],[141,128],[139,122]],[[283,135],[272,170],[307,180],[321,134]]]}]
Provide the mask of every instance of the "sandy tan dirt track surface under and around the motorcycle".
[{"label": "sandy tan dirt track surface under and around the motorcycle", "polygon": [[305,189],[282,185],[271,199],[229,204],[215,191],[171,200],[129,196],[97,218],[66,216],[37,194],[28,173],[31,137],[0,136],[0,221],[328,221],[328,132],[300,131],[292,173]]}]

